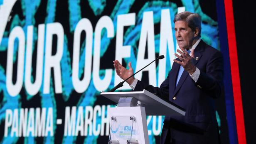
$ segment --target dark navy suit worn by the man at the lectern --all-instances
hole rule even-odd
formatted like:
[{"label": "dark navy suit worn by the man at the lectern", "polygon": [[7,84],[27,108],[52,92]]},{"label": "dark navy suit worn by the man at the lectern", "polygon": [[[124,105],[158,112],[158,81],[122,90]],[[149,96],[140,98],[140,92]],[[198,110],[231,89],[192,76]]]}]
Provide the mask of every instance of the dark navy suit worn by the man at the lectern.
[{"label": "dark navy suit worn by the man at the lectern", "polygon": [[162,144],[169,144],[169,141],[175,144],[219,143],[214,98],[223,95],[224,90],[222,54],[201,40],[194,49],[194,58],[197,57],[194,64],[199,68],[200,75],[196,83],[184,71],[175,86],[180,65],[173,63],[160,88],[141,81],[135,86],[135,91],[146,89],[186,110],[185,116],[165,117]]}]

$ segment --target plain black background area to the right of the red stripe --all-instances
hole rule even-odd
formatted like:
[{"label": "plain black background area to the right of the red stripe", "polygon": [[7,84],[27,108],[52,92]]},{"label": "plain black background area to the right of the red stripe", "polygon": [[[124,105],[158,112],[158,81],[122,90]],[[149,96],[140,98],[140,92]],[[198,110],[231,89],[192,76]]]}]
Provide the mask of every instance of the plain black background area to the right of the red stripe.
[{"label": "plain black background area to the right of the red stripe", "polygon": [[251,2],[233,0],[236,46],[247,144],[256,144],[256,44],[255,7]]}]

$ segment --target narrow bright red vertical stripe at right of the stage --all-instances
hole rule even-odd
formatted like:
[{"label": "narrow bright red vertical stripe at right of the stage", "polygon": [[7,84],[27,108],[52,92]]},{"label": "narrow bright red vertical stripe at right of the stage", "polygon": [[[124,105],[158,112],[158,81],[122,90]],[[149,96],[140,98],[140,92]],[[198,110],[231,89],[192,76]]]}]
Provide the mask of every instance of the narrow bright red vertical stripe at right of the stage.
[{"label": "narrow bright red vertical stripe at right of the stage", "polygon": [[233,86],[234,96],[234,107],[236,115],[236,129],[239,144],[246,144],[246,135],[244,128],[244,111],[241,97],[241,86],[239,77],[239,67],[236,49],[236,33],[234,25],[234,13],[232,0],[224,0],[225,4],[225,15],[226,15],[226,27],[229,44],[229,58],[230,58],[230,69],[231,79]]}]

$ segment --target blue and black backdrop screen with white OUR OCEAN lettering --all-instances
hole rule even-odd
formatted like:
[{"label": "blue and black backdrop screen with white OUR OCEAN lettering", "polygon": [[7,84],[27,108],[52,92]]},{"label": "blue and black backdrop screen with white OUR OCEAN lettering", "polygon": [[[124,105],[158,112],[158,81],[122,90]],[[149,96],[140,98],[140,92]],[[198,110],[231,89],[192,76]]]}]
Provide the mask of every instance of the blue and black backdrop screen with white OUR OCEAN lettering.
[{"label": "blue and black backdrop screen with white OUR OCEAN lettering", "polygon": [[[113,60],[138,71],[164,55],[135,76],[160,86],[178,49],[173,19],[185,10],[202,17],[202,39],[222,49],[214,0],[0,0],[0,143],[106,144],[115,104],[99,93],[121,81]],[[229,143],[224,98],[217,110]],[[150,144],[163,120],[147,117]]]}]

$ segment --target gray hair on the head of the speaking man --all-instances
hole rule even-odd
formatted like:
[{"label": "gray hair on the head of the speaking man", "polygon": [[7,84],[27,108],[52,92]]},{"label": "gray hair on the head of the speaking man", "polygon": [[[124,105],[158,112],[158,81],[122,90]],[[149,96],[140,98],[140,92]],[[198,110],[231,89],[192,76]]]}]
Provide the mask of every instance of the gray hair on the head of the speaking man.
[{"label": "gray hair on the head of the speaking man", "polygon": [[201,17],[196,13],[191,12],[181,12],[177,15],[175,15],[173,22],[175,23],[178,20],[182,20],[187,22],[188,27],[192,29],[192,31],[195,31],[196,28],[199,29],[199,35],[198,37],[201,37]]}]

